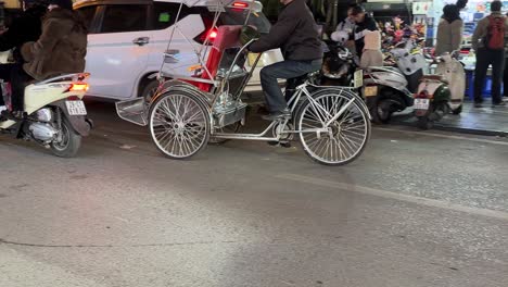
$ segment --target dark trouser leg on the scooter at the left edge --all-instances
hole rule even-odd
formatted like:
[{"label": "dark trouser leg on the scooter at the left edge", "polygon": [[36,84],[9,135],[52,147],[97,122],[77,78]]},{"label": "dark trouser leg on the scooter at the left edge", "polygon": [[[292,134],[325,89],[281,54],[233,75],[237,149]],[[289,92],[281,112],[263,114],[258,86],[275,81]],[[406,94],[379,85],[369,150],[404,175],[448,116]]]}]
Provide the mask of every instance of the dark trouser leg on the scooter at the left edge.
[{"label": "dark trouser leg on the scooter at the left edge", "polygon": [[[23,111],[25,108],[25,88],[33,77],[26,74],[22,64],[0,64],[0,78],[11,83],[12,109],[14,111]],[[3,95],[0,98],[0,105],[3,105]]]}]

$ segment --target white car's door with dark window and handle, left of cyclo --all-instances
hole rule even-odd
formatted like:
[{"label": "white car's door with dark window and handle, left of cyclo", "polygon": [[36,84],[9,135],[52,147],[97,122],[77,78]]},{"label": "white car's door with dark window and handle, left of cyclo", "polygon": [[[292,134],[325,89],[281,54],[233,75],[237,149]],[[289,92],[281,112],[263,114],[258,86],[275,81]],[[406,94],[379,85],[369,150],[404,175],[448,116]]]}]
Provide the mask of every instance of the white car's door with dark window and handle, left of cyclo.
[{"label": "white car's door with dark window and handle, left of cyclo", "polygon": [[148,4],[99,5],[97,27],[88,35],[89,95],[127,99],[148,65],[151,35]]}]

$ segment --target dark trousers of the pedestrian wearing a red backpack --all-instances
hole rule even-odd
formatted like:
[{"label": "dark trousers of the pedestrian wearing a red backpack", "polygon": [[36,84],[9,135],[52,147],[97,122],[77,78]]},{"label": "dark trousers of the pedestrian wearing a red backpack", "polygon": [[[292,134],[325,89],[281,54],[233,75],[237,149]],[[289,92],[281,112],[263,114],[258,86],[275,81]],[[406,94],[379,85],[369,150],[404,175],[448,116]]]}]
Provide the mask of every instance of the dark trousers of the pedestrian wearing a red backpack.
[{"label": "dark trousers of the pedestrian wearing a red backpack", "polygon": [[500,83],[505,67],[505,51],[480,48],[477,53],[474,68],[474,102],[483,102],[482,90],[485,85],[486,72],[492,65],[492,102],[501,102]]}]

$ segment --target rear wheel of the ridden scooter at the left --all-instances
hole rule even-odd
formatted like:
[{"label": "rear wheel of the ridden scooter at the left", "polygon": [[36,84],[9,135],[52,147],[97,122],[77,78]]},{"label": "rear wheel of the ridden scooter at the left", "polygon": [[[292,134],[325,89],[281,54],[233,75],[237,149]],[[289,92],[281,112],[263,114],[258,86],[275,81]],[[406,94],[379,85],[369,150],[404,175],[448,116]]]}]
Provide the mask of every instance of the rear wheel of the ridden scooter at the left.
[{"label": "rear wheel of the ridden scooter at the left", "polygon": [[60,158],[73,158],[81,146],[81,136],[74,130],[66,117],[62,118],[62,130],[59,141],[51,142],[51,151]]}]

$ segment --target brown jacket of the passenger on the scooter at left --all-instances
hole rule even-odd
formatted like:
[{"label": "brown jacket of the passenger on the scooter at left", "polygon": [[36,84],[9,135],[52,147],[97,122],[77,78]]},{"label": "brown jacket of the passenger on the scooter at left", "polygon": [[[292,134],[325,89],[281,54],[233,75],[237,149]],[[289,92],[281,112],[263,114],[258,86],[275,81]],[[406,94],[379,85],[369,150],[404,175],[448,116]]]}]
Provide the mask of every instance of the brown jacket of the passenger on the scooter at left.
[{"label": "brown jacket of the passenger on the scooter at left", "polygon": [[23,45],[25,72],[37,80],[85,70],[87,28],[75,11],[54,9],[42,21],[42,35]]}]

